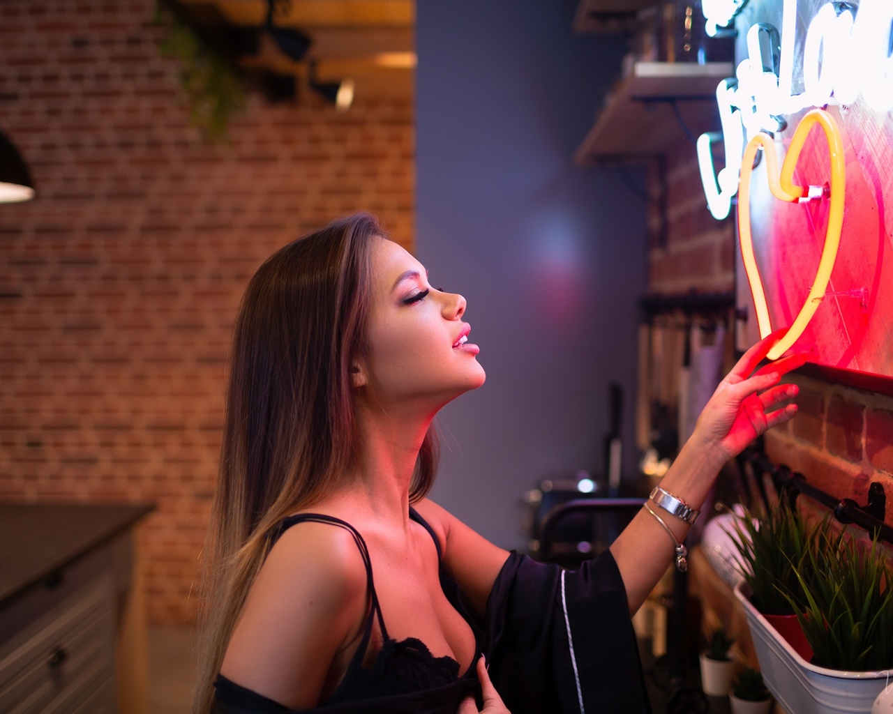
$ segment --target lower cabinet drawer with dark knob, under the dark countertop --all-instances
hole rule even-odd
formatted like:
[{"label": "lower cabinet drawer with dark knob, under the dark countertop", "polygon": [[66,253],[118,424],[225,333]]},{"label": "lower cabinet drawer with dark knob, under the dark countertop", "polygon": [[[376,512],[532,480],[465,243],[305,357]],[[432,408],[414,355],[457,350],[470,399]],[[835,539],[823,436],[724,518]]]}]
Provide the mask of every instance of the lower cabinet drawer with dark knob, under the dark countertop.
[{"label": "lower cabinet drawer with dark knob, under the dark countertop", "polygon": [[[0,660],[0,709],[44,711],[84,682],[113,679],[111,577],[79,591],[49,622]],[[44,620],[46,622],[46,620]],[[99,711],[99,710],[97,710]]]}]

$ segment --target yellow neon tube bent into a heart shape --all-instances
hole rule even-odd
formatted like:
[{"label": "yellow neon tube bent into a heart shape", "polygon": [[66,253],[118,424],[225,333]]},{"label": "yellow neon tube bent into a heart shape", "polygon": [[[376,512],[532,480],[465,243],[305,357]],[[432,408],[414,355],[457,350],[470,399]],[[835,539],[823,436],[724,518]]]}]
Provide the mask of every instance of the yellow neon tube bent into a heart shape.
[{"label": "yellow neon tube bent into a heart shape", "polygon": [[[840,129],[828,112],[814,109],[805,115],[797,126],[794,137],[788,147],[788,154],[781,164],[781,172],[778,170],[778,157],[775,154],[775,145],[772,137],[760,132],[747,144],[744,157],[741,159],[741,183],[738,199],[738,232],[741,241],[741,257],[744,259],[744,270],[747,273],[747,281],[750,283],[750,292],[754,295],[756,309],[756,323],[760,328],[760,336],[765,337],[772,332],[772,320],[769,318],[769,308],[766,306],[766,295],[763,289],[763,279],[756,267],[754,257],[754,241],[750,234],[750,179],[753,174],[754,159],[757,149],[762,146],[766,161],[766,175],[769,179],[769,188],[772,195],[781,201],[802,201],[809,193],[809,187],[795,186],[791,183],[794,167],[800,157],[806,137],[814,124],[820,124],[828,140],[828,153],[830,154],[830,211],[828,213],[828,228],[825,231],[825,244],[822,247],[822,258],[819,260],[819,270],[815,273],[813,286],[809,290],[806,302],[797,313],[797,319],[788,328],[785,335],[772,346],[766,355],[770,360],[777,360],[787,352],[791,345],[797,342],[797,338],[803,334],[809,320],[813,319],[815,311],[819,307],[825,288],[831,277],[831,270],[837,260],[838,246],[840,245],[840,230],[843,227],[843,203],[846,189],[846,166],[844,164],[843,140],[840,138]],[[808,198],[806,200],[809,200]],[[816,299],[818,298],[818,299]]]}]

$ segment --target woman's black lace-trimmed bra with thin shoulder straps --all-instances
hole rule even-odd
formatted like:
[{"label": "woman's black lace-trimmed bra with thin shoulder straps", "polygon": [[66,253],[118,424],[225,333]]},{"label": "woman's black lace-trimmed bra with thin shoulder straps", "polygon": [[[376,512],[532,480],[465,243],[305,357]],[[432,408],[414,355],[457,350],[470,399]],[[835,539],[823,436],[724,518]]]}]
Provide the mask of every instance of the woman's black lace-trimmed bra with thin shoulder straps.
[{"label": "woman's black lace-trimmed bra with thin shoulder straps", "polygon": [[[413,509],[410,509],[410,516],[430,533],[438,549],[439,560],[441,557],[440,544],[434,531]],[[382,698],[384,700],[393,700],[395,697],[399,698],[406,694],[427,691],[452,692],[455,690],[455,692],[461,693],[461,696],[464,696],[465,693],[474,692],[477,687],[474,668],[480,654],[475,655],[472,666],[460,678],[460,665],[452,657],[434,657],[425,643],[415,637],[407,637],[405,640],[398,642],[388,636],[388,628],[385,627],[378,594],[375,592],[369,550],[365,541],[363,541],[363,536],[359,534],[355,527],[333,516],[319,513],[302,513],[284,519],[280,527],[272,535],[271,542],[275,543],[289,527],[305,521],[328,523],[342,527],[354,536],[357,548],[363,555],[371,597],[371,611],[369,618],[366,620],[363,639],[347,665],[344,678],[338,684],[335,692],[332,693],[329,701],[321,705],[321,709],[327,710],[330,707],[338,709],[338,704],[347,704],[349,702],[366,702],[381,700]],[[444,588],[447,599],[463,615],[463,618],[472,625],[477,645],[476,652],[480,652],[480,630],[478,627],[475,627],[472,619],[464,610],[463,604],[458,597],[458,588],[455,587],[455,583],[452,580],[447,581],[443,576],[441,576],[441,586]],[[364,668],[363,658],[369,647],[373,618],[378,619],[383,644],[380,651],[376,654],[371,668]],[[222,675],[217,676],[214,681],[214,687],[215,711],[220,712],[220,714],[224,714],[224,712],[233,712],[233,714],[238,712],[238,714],[242,714],[243,712],[288,711],[288,708],[280,703],[274,702],[246,687],[237,685]]]}]

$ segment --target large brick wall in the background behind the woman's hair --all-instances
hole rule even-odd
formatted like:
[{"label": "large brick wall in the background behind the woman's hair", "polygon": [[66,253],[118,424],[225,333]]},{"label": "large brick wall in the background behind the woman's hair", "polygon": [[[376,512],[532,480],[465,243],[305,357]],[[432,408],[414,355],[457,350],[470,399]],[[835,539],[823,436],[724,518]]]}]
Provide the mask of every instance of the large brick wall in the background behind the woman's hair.
[{"label": "large brick wall in the background behind the woman's hair", "polygon": [[0,498],[154,502],[149,617],[188,592],[216,477],[230,328],[275,248],[346,212],[412,242],[408,101],[252,96],[188,124],[151,0],[0,4],[0,129],[38,199],[0,204]]}]

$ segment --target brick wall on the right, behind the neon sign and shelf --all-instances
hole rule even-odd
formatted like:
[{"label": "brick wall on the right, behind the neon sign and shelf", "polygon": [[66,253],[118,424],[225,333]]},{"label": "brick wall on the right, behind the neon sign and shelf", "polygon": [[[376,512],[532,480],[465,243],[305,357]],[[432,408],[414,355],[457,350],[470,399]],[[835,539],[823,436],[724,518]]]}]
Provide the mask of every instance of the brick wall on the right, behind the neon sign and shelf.
[{"label": "brick wall on the right, behind the neon sign and shelf", "polygon": [[[680,144],[668,158],[666,177],[669,225],[665,245],[657,245],[652,220],[649,291],[731,290],[738,250],[733,218],[717,221],[707,212],[692,145]],[[829,494],[860,504],[869,484],[880,481],[887,494],[886,520],[893,523],[893,397],[802,375],[790,381],[800,386],[799,411],[766,436],[768,456]]]}]

